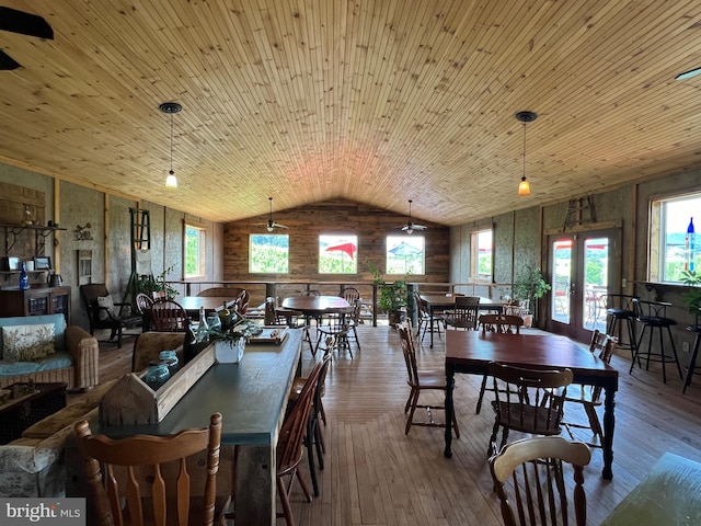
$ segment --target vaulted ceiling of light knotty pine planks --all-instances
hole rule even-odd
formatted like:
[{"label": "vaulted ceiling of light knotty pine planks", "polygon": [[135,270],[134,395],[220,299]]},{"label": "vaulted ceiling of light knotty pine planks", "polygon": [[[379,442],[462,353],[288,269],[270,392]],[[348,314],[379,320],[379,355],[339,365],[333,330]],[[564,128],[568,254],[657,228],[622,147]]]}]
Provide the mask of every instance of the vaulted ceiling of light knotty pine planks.
[{"label": "vaulted ceiling of light knotty pine planks", "polygon": [[211,220],[343,197],[459,225],[701,162],[701,76],[674,80],[698,0],[0,4],[55,32],[0,31],[0,161]]}]

